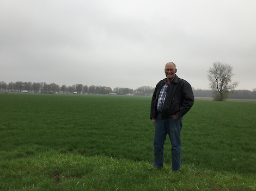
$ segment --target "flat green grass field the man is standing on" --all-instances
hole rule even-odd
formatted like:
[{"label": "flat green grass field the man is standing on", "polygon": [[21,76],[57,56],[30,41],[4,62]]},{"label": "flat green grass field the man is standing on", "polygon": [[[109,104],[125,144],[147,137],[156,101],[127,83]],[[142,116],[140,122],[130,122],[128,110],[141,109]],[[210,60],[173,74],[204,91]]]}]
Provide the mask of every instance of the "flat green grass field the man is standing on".
[{"label": "flat green grass field the man is standing on", "polygon": [[0,94],[0,190],[256,190],[256,103],[196,100],[182,171],[154,160],[151,97]]}]

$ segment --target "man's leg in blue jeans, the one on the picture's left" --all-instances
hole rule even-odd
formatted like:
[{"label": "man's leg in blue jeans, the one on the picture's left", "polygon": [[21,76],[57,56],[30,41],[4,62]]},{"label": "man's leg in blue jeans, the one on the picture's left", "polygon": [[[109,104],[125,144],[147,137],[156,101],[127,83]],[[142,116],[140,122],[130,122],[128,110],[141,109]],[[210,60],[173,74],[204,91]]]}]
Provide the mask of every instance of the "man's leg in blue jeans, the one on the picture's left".
[{"label": "man's leg in blue jeans, the one on the picture's left", "polygon": [[164,120],[161,120],[161,114],[156,117],[155,121],[155,136],[154,136],[154,166],[163,167],[163,145],[166,141],[167,131],[164,126]]}]

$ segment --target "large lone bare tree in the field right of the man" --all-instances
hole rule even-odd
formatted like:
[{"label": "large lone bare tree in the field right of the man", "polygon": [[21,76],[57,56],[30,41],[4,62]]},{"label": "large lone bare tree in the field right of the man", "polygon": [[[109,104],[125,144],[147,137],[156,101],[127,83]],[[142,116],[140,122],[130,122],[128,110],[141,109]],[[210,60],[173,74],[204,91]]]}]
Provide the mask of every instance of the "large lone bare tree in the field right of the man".
[{"label": "large lone bare tree in the field right of the man", "polygon": [[233,67],[227,63],[214,62],[208,71],[210,88],[214,90],[214,100],[224,101],[228,98],[228,92],[233,91],[239,82],[231,82]]}]

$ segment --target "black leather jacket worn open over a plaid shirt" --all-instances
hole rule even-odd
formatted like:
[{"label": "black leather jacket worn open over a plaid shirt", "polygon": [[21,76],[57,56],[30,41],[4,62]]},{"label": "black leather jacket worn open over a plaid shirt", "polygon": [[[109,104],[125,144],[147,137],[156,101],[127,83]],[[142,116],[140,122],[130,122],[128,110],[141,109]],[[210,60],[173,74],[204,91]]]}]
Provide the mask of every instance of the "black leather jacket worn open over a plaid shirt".
[{"label": "black leather jacket worn open over a plaid shirt", "polygon": [[[159,99],[160,91],[164,85],[164,80],[161,80],[155,88],[153,98],[151,101],[150,119],[156,118],[157,101]],[[167,119],[172,114],[176,114],[179,118],[184,116],[188,110],[191,109],[194,103],[194,95],[191,85],[177,75],[174,80],[170,82],[167,88],[166,99],[164,100],[164,107],[162,111],[162,119]]]}]

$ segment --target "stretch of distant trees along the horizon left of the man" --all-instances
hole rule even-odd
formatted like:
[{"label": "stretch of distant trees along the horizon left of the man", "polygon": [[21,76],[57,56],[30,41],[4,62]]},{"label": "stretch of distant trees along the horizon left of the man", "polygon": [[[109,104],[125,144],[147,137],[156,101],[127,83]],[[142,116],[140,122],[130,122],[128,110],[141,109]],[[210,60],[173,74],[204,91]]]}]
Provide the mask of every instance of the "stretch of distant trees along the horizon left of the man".
[{"label": "stretch of distant trees along the horizon left of the man", "polygon": [[46,82],[9,82],[7,84],[4,81],[0,82],[1,92],[22,92],[22,91],[34,92],[34,93],[90,93],[90,94],[109,94],[112,92],[117,95],[153,95],[154,88],[149,86],[139,87],[136,90],[131,88],[115,87],[112,90],[111,87],[106,86],[83,86],[82,84],[76,84],[72,86],[58,84],[46,84]]}]

